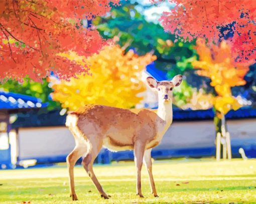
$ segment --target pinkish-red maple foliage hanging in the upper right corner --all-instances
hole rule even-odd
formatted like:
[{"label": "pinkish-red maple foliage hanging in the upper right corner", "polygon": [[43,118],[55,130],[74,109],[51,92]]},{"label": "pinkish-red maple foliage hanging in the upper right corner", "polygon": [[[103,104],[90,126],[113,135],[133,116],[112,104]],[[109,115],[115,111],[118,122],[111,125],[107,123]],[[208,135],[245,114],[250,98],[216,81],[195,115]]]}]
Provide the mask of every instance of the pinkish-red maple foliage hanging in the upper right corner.
[{"label": "pinkish-red maple foliage hanging in the upper right corner", "polygon": [[[152,0],[161,2],[163,0]],[[175,7],[164,12],[164,29],[184,41],[204,38],[217,42],[231,32],[232,51],[239,61],[256,58],[256,4],[254,0],[170,0]],[[225,29],[223,29],[225,28]],[[223,35],[224,34],[224,35]]]}]

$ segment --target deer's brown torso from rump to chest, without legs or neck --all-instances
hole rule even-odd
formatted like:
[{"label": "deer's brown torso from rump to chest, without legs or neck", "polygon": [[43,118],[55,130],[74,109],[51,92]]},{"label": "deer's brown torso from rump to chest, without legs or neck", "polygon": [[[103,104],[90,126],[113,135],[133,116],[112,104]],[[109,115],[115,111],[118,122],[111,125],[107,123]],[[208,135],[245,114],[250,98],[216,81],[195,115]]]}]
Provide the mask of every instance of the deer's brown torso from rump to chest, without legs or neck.
[{"label": "deer's brown torso from rump to chest, without legs or neck", "polygon": [[[131,111],[103,105],[87,105],[72,115],[77,117],[77,127],[89,140],[103,137],[106,147],[131,149],[136,139],[156,136],[157,114],[149,109]],[[109,147],[110,148],[110,147]],[[119,150],[115,148],[114,150]]]}]

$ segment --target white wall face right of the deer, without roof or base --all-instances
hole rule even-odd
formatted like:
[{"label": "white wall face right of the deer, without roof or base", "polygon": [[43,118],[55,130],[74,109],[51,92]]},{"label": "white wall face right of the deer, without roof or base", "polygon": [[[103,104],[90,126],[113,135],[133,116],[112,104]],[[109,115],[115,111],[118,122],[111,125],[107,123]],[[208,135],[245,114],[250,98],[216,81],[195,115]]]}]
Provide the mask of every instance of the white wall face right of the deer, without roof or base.
[{"label": "white wall face right of the deer, without roof or base", "polygon": [[[227,120],[231,145],[256,143],[256,119]],[[156,149],[214,146],[213,121],[174,121]]]}]

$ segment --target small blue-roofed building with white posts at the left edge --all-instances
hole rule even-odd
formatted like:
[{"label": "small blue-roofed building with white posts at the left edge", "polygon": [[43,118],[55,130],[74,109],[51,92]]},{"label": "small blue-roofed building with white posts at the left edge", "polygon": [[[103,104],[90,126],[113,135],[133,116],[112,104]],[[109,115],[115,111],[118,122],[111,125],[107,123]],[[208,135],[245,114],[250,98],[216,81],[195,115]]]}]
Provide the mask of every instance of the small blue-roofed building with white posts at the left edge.
[{"label": "small blue-roofed building with white posts at the left edge", "polygon": [[12,168],[17,163],[18,135],[11,124],[15,114],[46,106],[35,97],[0,91],[0,168]]}]

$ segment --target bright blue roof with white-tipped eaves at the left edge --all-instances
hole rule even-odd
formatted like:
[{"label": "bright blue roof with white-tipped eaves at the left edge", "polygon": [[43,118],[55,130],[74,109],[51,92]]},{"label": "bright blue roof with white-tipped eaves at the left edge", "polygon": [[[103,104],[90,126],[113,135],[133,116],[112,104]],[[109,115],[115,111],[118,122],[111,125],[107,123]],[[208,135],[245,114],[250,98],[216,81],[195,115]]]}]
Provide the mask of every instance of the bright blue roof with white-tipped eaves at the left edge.
[{"label": "bright blue roof with white-tipped eaves at the left edge", "polygon": [[0,91],[1,109],[44,108],[48,104],[36,97]]}]

